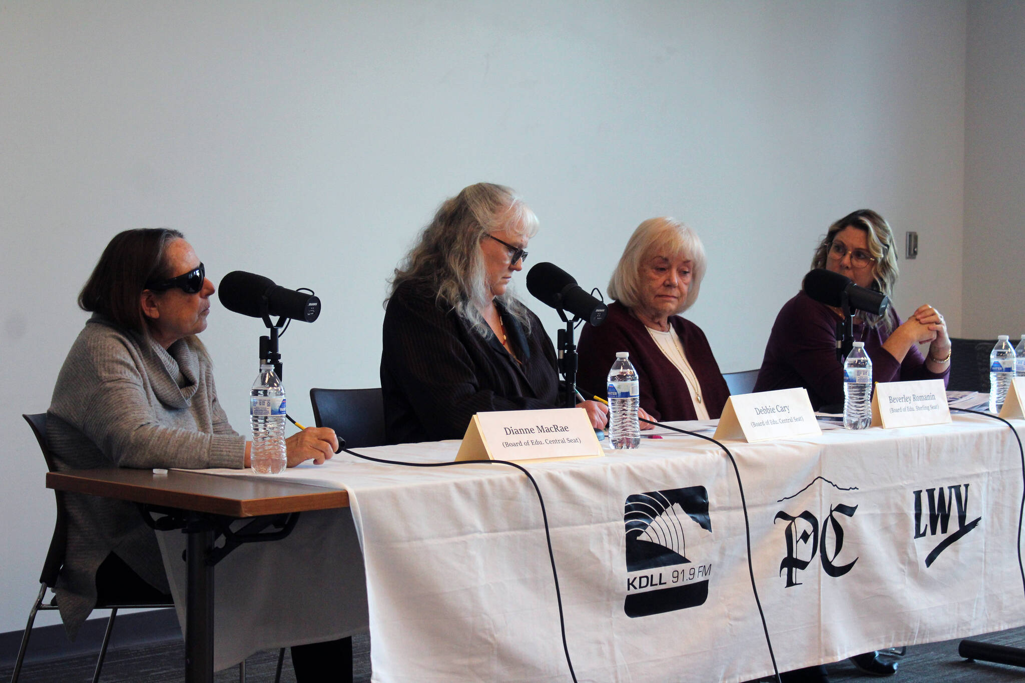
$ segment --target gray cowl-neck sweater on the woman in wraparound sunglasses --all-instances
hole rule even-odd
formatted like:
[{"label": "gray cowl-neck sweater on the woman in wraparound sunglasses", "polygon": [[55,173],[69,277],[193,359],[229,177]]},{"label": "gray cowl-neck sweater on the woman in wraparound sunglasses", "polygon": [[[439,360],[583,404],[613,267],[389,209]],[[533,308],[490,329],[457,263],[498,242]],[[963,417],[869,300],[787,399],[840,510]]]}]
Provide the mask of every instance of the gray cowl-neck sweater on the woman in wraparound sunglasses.
[{"label": "gray cowl-neck sweater on the woman in wraparound sunglasses", "polygon": [[[47,412],[58,471],[97,467],[243,466],[245,438],[217,402],[210,357],[196,337],[164,350],[94,314],[68,353]],[[67,553],[57,604],[68,635],[96,604],[96,569],[115,553],[163,592],[154,532],[133,503],[64,494]]]}]

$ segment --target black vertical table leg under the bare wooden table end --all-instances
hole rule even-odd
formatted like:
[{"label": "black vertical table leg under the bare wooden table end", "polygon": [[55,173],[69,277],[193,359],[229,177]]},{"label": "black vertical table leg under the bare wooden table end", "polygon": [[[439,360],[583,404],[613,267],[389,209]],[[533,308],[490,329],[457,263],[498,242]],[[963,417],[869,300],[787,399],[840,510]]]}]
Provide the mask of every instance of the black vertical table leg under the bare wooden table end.
[{"label": "black vertical table leg under the bare wooden table end", "polygon": [[191,514],[189,521],[186,683],[213,683],[213,565],[208,560],[214,531],[202,515]]}]

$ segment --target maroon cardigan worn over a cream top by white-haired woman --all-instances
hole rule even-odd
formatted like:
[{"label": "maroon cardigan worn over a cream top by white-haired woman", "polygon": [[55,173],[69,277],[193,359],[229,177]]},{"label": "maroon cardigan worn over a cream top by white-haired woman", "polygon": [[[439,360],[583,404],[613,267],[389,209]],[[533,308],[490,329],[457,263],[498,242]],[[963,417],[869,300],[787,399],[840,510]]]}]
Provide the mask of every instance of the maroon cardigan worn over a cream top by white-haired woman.
[{"label": "maroon cardigan worn over a cream top by white-haired woman", "polygon": [[[701,385],[701,398],[708,417],[719,418],[730,396],[723,373],[711,353],[701,328],[680,315],[670,315],[694,374]],[[696,420],[691,393],[676,367],[672,365],[648,333],[644,323],[633,317],[629,309],[615,301],[609,304],[609,315],[599,327],[584,325],[580,333],[578,352],[580,370],[577,384],[583,389],[605,395],[609,369],[616,360],[616,351],[629,351],[630,362],[641,380],[641,408],[659,422]]]}]

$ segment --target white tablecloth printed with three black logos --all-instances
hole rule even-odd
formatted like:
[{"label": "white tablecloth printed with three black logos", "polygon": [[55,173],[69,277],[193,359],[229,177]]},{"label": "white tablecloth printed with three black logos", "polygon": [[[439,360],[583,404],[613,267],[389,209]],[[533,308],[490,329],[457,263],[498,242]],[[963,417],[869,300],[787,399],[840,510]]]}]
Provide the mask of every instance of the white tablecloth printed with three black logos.
[{"label": "white tablecloth printed with three black logos", "polygon": [[[1022,464],[1004,425],[955,416],[946,426],[728,445],[780,671],[1025,624]],[[424,462],[452,460],[457,449],[449,441],[363,452]],[[682,435],[607,453],[527,466],[547,508],[578,680],[771,673],[725,454]],[[522,474],[500,465],[401,468],[342,454],[281,476],[350,492],[374,681],[570,680],[540,508]],[[342,516],[322,516],[333,530],[306,529],[324,544],[314,552],[296,556],[306,542],[286,540],[218,565],[218,663],[227,661],[224,622],[253,648],[264,620],[281,622],[285,610],[265,604],[266,592],[289,596],[293,617],[276,626],[279,636],[296,625],[327,637],[358,628],[323,610],[294,616],[301,609],[291,602],[311,592],[337,599],[350,615],[359,611],[359,555],[343,540]],[[305,522],[321,518],[304,516],[300,528]],[[248,567],[257,564],[264,570],[253,577]],[[308,575],[288,581],[296,565]],[[245,589],[222,606],[235,581]]]}]

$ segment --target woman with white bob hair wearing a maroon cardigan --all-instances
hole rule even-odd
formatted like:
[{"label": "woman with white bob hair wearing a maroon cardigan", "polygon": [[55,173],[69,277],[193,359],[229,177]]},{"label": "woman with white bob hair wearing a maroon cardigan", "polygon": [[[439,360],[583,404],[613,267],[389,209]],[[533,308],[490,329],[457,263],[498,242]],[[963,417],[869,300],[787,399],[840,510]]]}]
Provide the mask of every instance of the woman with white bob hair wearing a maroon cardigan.
[{"label": "woman with white bob hair wearing a maroon cardigan", "polygon": [[608,317],[580,333],[580,386],[600,390],[616,352],[627,351],[652,419],[719,418],[730,389],[704,333],[680,315],[697,301],[704,272],[693,229],[667,217],[641,223],[609,281]]}]

